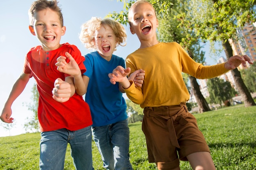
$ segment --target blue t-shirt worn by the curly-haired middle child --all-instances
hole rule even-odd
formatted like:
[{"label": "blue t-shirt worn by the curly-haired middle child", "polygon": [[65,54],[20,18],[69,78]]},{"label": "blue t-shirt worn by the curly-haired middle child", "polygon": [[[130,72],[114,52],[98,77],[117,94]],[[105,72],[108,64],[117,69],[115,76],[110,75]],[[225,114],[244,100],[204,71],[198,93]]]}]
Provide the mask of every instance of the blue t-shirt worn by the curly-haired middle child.
[{"label": "blue t-shirt worn by the curly-haired middle child", "polygon": [[85,55],[84,75],[90,78],[85,101],[92,114],[92,126],[105,126],[127,119],[126,102],[119,91],[119,84],[111,84],[109,73],[117,66],[125,68],[123,58],[112,55],[110,61],[105,60],[97,51]]}]

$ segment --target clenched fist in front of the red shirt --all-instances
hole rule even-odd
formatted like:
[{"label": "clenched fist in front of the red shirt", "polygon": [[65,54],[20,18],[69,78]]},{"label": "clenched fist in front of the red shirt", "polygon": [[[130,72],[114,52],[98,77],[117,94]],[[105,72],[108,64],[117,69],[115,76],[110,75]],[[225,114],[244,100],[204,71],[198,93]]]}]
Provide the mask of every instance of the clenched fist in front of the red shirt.
[{"label": "clenched fist in front of the red shirt", "polygon": [[71,86],[69,83],[63,81],[61,78],[57,78],[54,82],[52,94],[52,97],[57,102],[67,102],[71,96]]}]

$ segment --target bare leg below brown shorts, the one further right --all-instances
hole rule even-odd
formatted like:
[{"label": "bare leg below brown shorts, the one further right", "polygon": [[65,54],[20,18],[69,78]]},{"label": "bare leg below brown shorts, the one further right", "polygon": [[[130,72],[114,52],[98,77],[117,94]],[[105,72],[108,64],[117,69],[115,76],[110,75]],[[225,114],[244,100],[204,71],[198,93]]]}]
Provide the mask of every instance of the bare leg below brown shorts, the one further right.
[{"label": "bare leg below brown shorts, the one further right", "polygon": [[209,152],[195,152],[187,156],[193,170],[216,170]]}]

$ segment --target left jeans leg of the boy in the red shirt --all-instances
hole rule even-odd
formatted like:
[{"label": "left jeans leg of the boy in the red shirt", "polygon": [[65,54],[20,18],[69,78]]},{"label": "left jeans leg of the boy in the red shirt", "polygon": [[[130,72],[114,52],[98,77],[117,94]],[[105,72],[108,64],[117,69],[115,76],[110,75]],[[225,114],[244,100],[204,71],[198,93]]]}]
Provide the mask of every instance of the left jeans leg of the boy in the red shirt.
[{"label": "left jeans leg of the boy in the red shirt", "polygon": [[66,129],[41,133],[40,170],[63,170],[67,150]]}]

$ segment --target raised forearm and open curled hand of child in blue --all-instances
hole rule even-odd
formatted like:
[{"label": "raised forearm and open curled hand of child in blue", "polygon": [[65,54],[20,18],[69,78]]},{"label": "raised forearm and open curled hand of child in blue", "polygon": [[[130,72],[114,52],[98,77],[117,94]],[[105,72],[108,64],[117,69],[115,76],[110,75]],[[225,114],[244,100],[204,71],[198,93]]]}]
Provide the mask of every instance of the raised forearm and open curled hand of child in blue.
[{"label": "raised forearm and open curled hand of child in blue", "polygon": [[86,82],[88,79],[85,79],[85,77],[81,75],[80,68],[76,63],[76,60],[74,60],[74,58],[72,57],[72,55],[70,55],[70,53],[67,52],[65,53],[65,55],[66,57],[68,57],[70,62],[67,63],[65,60],[66,57],[64,56],[58,57],[57,63],[55,64],[57,66],[57,70],[62,73],[66,73],[73,76],[76,93],[79,95],[84,95],[87,91],[87,85],[89,81]]}]

